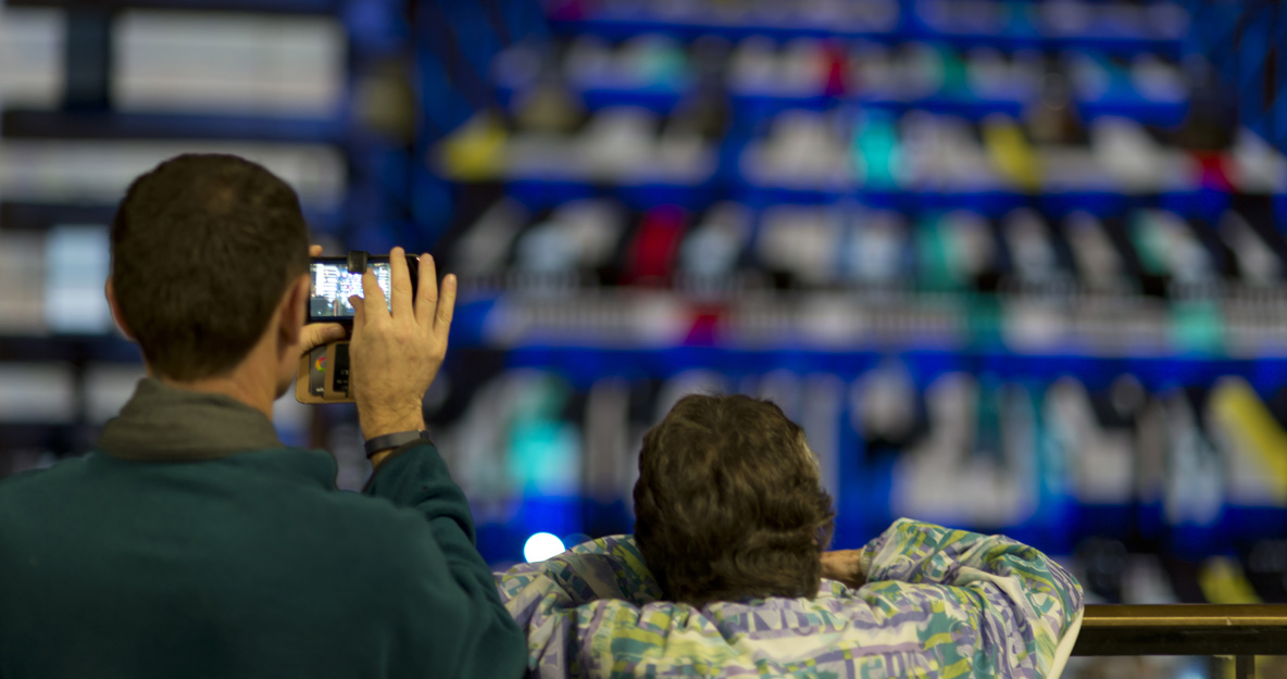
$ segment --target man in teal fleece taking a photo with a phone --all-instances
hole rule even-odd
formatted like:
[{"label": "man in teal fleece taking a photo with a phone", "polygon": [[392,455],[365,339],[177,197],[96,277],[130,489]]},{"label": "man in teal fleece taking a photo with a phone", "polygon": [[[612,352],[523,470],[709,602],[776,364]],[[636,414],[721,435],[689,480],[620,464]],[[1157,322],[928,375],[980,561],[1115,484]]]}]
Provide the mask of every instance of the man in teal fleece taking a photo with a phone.
[{"label": "man in teal fleece taking a photo with a phone", "polygon": [[[516,676],[524,639],[425,435],[456,279],[395,248],[354,298],[351,391],[375,473],[282,445],[308,229],[295,192],[230,156],[139,177],[112,224],[107,297],[148,377],[97,450],[0,482],[0,676]],[[375,450],[372,450],[375,448]]]}]

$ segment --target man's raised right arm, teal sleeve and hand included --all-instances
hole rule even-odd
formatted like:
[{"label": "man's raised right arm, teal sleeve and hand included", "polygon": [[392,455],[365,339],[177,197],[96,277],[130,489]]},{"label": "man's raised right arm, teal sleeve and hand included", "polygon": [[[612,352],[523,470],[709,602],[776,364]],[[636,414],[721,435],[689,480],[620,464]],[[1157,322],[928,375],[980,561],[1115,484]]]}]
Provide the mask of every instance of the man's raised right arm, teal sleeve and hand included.
[{"label": "man's raised right arm, teal sleeve and hand included", "polygon": [[[354,307],[350,385],[367,440],[425,428],[422,400],[447,356],[456,305],[456,278],[443,280],[439,297],[438,271],[427,253],[420,257],[414,297],[403,249],[394,248],[389,260],[387,301],[369,269],[362,275],[363,297],[349,300]],[[390,674],[411,675],[413,667],[429,666],[454,666],[454,673],[444,673],[454,676],[520,674],[523,633],[501,606],[492,574],[474,545],[468,503],[438,450],[414,442],[380,451],[373,463],[364,493],[417,511],[429,526],[427,535],[409,529],[403,558],[395,559],[389,574],[391,583],[405,589],[398,626],[403,653],[394,652]],[[447,620],[444,611],[450,611]],[[418,644],[426,639],[417,639],[423,635],[435,635],[435,646],[452,648],[453,657],[425,657]]]}]

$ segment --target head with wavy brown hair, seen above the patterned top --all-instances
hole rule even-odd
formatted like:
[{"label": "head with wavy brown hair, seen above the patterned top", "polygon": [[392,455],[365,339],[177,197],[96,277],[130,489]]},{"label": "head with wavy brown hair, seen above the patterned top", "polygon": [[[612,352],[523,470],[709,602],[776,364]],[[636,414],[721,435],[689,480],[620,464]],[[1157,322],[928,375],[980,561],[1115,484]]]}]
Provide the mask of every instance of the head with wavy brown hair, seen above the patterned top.
[{"label": "head with wavy brown hair, seen above the patterned top", "polygon": [[665,598],[813,597],[835,512],[771,401],[685,396],[644,437],[634,539]]}]

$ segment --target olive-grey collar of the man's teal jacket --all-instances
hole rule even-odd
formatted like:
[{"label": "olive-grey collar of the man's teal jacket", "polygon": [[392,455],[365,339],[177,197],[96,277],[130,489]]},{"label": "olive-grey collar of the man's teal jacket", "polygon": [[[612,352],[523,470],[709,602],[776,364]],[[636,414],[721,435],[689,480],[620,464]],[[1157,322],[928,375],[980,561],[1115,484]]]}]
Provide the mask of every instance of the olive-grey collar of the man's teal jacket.
[{"label": "olive-grey collar of the man's teal jacket", "polygon": [[113,458],[162,462],[218,459],[282,449],[264,413],[229,396],[171,387],[144,378],[98,446]]}]

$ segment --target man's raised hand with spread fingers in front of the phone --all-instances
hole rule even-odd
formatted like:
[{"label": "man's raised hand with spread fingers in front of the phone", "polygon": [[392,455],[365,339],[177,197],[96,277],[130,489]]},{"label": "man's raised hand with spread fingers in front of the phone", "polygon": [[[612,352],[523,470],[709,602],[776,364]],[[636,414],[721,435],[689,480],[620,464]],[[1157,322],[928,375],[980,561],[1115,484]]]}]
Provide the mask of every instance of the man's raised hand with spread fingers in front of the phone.
[{"label": "man's raised hand with spread fingers in front of the phone", "polygon": [[389,252],[390,302],[367,269],[363,297],[350,297],[355,311],[349,345],[350,391],[367,439],[425,428],[423,399],[447,355],[456,309],[456,276],[443,279],[427,253],[420,257],[420,291],[412,298],[403,248]]}]

